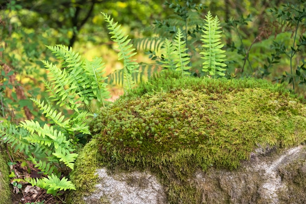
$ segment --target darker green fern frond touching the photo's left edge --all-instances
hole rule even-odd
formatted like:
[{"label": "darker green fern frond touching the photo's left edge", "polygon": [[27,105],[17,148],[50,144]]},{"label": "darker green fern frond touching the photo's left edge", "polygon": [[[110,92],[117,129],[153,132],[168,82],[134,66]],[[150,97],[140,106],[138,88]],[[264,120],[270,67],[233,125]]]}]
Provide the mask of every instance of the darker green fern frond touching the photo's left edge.
[{"label": "darker green fern frond touching the photo's left edge", "polygon": [[27,135],[29,135],[29,132],[23,128],[17,129],[11,123],[5,125],[0,124],[0,137],[3,142],[10,143],[11,147],[14,147],[14,152],[23,150],[25,154],[28,154],[33,149],[33,145],[24,138]]}]

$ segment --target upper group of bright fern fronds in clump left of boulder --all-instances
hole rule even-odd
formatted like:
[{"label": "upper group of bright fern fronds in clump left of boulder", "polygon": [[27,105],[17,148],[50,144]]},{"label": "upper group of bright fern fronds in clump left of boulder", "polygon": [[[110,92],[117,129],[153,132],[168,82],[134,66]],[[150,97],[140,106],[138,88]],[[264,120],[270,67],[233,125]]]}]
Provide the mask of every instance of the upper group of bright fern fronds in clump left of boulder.
[{"label": "upper group of bright fern fronds in clump left of boulder", "polygon": [[[62,67],[65,68],[61,69],[52,63],[43,61],[47,70],[50,71],[48,76],[53,81],[52,84],[45,82],[47,90],[51,93],[51,100],[75,111],[81,105],[80,102],[84,102],[87,109],[93,112],[90,109],[90,102],[93,99],[97,99],[105,106],[104,101],[109,98],[109,92],[106,89],[107,84],[104,83],[105,64],[102,63],[102,58],[94,58],[92,62],[84,61],[79,53],[75,53],[65,45],[47,47],[56,53],[59,60],[64,61]],[[68,89],[65,88],[67,84],[70,85]]]}]

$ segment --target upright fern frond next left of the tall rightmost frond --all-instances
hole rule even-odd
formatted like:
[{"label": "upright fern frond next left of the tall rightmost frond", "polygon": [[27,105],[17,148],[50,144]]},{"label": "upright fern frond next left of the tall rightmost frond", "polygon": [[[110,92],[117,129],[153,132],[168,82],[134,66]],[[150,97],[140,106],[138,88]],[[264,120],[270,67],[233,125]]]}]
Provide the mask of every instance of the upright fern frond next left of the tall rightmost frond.
[{"label": "upright fern frond next left of the tall rightmost frond", "polygon": [[190,56],[186,51],[188,48],[185,47],[185,41],[182,31],[178,28],[175,36],[175,51],[173,52],[175,58],[175,70],[180,71],[182,76],[184,74],[191,74],[188,71],[191,67],[187,66],[190,63]]}]

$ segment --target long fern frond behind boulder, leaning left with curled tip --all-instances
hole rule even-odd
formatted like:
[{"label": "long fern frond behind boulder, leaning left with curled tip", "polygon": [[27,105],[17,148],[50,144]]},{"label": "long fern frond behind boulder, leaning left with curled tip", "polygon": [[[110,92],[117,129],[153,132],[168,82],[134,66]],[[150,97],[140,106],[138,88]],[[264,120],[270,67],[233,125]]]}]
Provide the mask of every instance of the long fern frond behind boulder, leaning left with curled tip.
[{"label": "long fern frond behind boulder, leaning left with curled tip", "polygon": [[136,68],[139,67],[138,63],[134,59],[131,59],[132,56],[136,54],[134,52],[135,48],[132,48],[132,44],[129,45],[131,39],[128,39],[127,35],[123,34],[122,29],[118,23],[114,23],[113,19],[110,19],[110,16],[106,13],[102,13],[104,20],[109,23],[108,29],[110,30],[109,34],[113,42],[118,44],[118,60],[123,60],[124,64],[124,74],[127,79],[128,89],[131,90],[133,86],[133,81],[131,79],[131,73],[137,72]]}]

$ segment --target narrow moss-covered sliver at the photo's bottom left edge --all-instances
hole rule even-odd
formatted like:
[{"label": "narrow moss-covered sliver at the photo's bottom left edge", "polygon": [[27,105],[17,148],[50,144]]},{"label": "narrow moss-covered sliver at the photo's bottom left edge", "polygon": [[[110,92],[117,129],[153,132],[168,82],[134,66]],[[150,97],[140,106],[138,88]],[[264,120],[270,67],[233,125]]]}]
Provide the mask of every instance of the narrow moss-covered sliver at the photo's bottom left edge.
[{"label": "narrow moss-covered sliver at the photo's bottom left edge", "polygon": [[0,204],[9,204],[11,203],[11,191],[9,187],[9,169],[7,165],[7,158],[3,154],[2,146],[0,147]]}]

